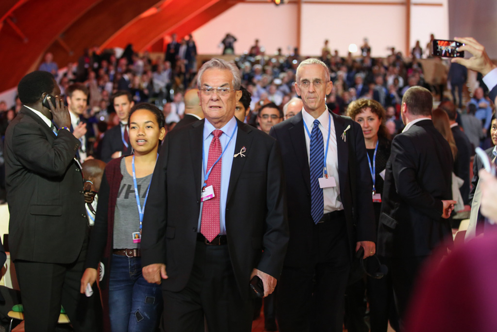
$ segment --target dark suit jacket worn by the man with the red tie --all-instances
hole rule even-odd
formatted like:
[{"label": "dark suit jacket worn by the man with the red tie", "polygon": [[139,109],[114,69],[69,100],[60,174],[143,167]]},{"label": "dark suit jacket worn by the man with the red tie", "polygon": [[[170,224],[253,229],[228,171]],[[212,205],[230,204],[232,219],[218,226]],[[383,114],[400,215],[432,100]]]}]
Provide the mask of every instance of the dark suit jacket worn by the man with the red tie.
[{"label": "dark suit jacket worn by the man with the red tie", "polygon": [[[188,282],[198,233],[202,175],[200,120],[166,135],[156,164],[143,220],[142,265],[166,264],[163,289],[180,291]],[[238,121],[226,201],[226,234],[242,298],[257,268],[278,278],[288,241],[286,201],[277,142]],[[231,156],[223,156],[231,158]]]}]

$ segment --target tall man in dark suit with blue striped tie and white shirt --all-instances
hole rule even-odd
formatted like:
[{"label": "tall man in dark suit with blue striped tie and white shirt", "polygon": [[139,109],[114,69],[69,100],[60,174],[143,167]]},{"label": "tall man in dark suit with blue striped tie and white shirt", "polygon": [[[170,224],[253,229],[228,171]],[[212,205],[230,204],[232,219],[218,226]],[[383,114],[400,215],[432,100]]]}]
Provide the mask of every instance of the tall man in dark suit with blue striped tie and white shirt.
[{"label": "tall man in dark suit with blue striped tie and white shirt", "polygon": [[276,313],[281,332],[341,332],[352,256],[375,252],[371,175],[360,125],[326,107],[326,64],[305,60],[296,78],[303,111],[270,131],[281,146],[290,228]]}]

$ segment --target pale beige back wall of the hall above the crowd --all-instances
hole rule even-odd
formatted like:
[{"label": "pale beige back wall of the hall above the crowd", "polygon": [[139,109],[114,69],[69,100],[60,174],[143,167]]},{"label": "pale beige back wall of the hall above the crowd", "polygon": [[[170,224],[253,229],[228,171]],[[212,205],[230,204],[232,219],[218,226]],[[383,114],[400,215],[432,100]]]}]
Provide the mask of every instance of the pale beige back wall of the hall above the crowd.
[{"label": "pale beige back wall of the hall above the crowd", "polygon": [[[326,0],[323,0],[326,1]],[[419,39],[424,48],[430,33],[446,39],[448,35],[448,0],[412,0],[411,47]],[[325,39],[332,49],[345,55],[350,43],[358,46],[368,37],[373,56],[383,56],[387,47],[405,51],[406,8],[399,0],[382,0],[395,4],[302,4],[301,54],[319,55]],[[329,1],[330,2],[330,1]],[[350,1],[353,2],[353,1]],[[361,0],[361,2],[375,2]],[[415,5],[416,2],[439,5]],[[297,44],[297,4],[276,6],[272,3],[239,3],[193,32],[199,53],[219,54],[219,43],[227,32],[235,35],[235,52],[248,51],[255,38],[274,53],[285,53]]]}]

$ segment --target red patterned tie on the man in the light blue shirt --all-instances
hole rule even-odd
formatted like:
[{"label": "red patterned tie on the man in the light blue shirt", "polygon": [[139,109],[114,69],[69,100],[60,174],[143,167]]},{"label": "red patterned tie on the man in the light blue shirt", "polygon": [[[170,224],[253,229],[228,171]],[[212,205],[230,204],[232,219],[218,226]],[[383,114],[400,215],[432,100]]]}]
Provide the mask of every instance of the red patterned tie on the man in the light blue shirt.
[{"label": "red patterned tie on the man in the light blue shirt", "polygon": [[[219,158],[222,153],[221,142],[219,136],[223,133],[222,130],[214,130],[212,134],[211,145],[209,146],[209,158],[207,160],[207,170],[209,170],[214,162]],[[219,234],[220,212],[219,200],[221,198],[221,162],[219,161],[212,168],[209,178],[207,179],[207,186],[212,186],[214,189],[214,198],[204,202],[202,207],[202,220],[200,223],[200,232],[210,242]]]}]

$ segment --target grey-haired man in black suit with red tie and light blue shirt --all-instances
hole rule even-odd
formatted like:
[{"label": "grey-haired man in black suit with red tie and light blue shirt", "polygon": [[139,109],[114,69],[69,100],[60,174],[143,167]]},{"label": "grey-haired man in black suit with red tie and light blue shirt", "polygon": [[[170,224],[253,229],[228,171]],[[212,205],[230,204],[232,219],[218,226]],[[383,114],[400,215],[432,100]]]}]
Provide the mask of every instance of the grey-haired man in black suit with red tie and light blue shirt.
[{"label": "grey-haired man in black suit with red tie and light blue shirt", "polygon": [[[199,71],[205,119],[166,135],[143,220],[143,275],[161,283],[168,332],[251,330],[249,281],[276,287],[288,241],[276,140],[239,121],[240,70]],[[221,157],[217,157],[221,156]]]}]

